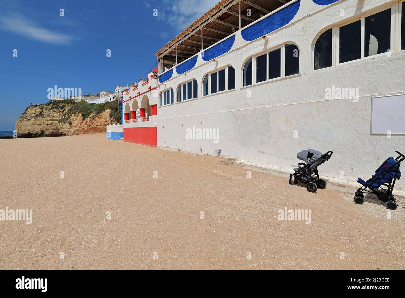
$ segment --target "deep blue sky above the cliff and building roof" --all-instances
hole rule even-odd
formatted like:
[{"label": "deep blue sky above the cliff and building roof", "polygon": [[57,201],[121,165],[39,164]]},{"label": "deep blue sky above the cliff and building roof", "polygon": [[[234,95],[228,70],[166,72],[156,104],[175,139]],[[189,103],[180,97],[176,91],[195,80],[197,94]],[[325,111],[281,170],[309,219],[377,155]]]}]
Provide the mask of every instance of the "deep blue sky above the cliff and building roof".
[{"label": "deep blue sky above the cliff and building roof", "polygon": [[1,1],[0,131],[14,130],[30,103],[47,102],[54,85],[98,93],[144,77],[156,51],[217,2]]}]

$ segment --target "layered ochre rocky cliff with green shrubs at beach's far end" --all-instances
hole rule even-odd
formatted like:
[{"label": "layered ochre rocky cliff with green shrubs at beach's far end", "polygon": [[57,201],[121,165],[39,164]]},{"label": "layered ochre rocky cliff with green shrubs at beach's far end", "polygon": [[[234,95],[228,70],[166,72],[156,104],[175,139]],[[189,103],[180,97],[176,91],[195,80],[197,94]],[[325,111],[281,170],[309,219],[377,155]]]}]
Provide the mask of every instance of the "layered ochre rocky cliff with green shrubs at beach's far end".
[{"label": "layered ochre rocky cliff with green shrubs at beach's far end", "polygon": [[[115,105],[114,105],[115,103]],[[103,133],[118,119],[117,101],[96,104],[49,101],[31,105],[15,122],[18,137],[55,137]]]}]

